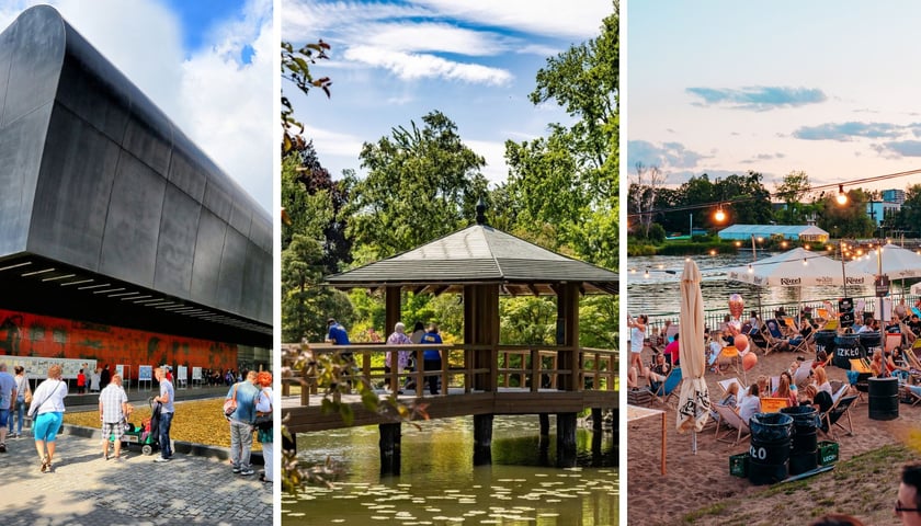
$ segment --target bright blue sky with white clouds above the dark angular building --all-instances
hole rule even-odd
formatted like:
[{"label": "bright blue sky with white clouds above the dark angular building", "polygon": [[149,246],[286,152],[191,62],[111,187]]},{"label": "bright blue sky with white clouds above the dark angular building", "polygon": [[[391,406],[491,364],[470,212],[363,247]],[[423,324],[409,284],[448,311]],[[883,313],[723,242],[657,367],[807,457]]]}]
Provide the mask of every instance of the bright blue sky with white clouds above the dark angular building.
[{"label": "bright blue sky with white clouds above the dark angular building", "polygon": [[0,30],[50,3],[265,210],[277,156],[272,0],[0,0]]}]

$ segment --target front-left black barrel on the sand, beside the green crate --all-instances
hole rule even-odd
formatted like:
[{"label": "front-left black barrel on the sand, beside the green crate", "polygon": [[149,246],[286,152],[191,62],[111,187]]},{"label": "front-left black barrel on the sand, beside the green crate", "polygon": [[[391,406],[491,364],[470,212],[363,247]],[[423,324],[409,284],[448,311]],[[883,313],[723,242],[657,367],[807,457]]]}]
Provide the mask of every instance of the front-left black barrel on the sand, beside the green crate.
[{"label": "front-left black barrel on the sand, beside the green crate", "polygon": [[749,422],[749,480],[752,484],[772,484],[787,477],[793,416],[784,413],[755,413]]}]

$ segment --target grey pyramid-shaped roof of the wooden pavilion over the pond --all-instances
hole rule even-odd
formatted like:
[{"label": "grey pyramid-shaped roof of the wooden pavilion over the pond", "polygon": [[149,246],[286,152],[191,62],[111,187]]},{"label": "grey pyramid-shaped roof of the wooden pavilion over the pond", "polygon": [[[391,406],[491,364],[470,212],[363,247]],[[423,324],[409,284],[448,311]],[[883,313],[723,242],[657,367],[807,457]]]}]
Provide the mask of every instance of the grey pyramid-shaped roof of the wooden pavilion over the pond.
[{"label": "grey pyramid-shaped roof of the wooden pavilion over the pond", "polygon": [[399,286],[416,293],[461,291],[496,284],[504,294],[556,294],[579,283],[584,294],[617,294],[617,274],[537,247],[488,225],[474,225],[418,249],[328,276],[337,288]]}]

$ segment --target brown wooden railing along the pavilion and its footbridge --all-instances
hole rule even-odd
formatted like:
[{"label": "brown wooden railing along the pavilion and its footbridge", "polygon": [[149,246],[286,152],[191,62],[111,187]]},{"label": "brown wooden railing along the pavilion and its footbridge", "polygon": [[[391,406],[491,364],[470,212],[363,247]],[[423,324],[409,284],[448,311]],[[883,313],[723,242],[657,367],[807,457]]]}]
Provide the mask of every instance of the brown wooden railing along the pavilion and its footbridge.
[{"label": "brown wooden railing along the pavilion and its footbridge", "polygon": [[[538,392],[541,389],[569,391],[613,391],[618,370],[618,352],[590,347],[535,346],[535,345],[463,345],[420,344],[386,345],[354,344],[331,345],[308,344],[308,352],[320,354],[349,353],[353,370],[374,386],[387,386],[396,392],[406,379],[416,384],[416,392],[425,388],[427,376],[441,377],[441,395],[448,395],[450,388],[463,388],[463,392],[498,391],[499,388]],[[422,370],[425,350],[441,354],[440,370]],[[410,352],[416,363],[413,371],[385,371],[386,353]],[[575,354],[575,359],[569,358]],[[561,364],[572,364],[562,367]],[[285,364],[291,366],[291,364]],[[282,395],[289,396],[291,386],[299,385],[300,404],[309,405],[309,397],[318,393],[317,378],[291,376],[282,379]],[[560,386],[567,386],[561,389]]]}]

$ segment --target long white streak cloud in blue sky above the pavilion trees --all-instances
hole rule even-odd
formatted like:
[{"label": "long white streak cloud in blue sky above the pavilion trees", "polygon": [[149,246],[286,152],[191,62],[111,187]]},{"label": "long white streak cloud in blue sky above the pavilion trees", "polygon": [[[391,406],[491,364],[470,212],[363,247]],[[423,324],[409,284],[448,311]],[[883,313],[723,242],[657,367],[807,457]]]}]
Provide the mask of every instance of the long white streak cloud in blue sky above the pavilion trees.
[{"label": "long white streak cloud in blue sky above the pavilion trees", "polygon": [[512,81],[504,69],[462,64],[428,54],[395,53],[380,47],[356,46],[345,52],[346,60],[384,68],[402,80],[442,78],[470,83],[503,85]]}]

